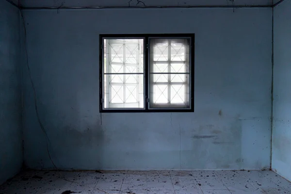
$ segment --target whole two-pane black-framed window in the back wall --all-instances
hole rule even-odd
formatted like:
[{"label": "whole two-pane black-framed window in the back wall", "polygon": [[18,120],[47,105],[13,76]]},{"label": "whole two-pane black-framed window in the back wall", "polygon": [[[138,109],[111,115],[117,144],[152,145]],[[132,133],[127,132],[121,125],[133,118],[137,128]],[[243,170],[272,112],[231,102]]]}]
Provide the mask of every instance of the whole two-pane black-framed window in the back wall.
[{"label": "whole two-pane black-framed window in the back wall", "polygon": [[100,35],[100,112],[194,112],[194,34]]}]

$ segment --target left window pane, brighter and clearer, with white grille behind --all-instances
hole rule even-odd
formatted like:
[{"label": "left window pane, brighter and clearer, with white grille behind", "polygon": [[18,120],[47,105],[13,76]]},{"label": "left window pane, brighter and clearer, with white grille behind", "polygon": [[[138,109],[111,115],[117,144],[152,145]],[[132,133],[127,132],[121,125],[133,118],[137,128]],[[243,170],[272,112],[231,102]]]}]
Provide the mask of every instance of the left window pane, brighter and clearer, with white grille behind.
[{"label": "left window pane, brighter and clearer, with white grille behind", "polygon": [[104,109],[143,109],[144,39],[104,39]]}]

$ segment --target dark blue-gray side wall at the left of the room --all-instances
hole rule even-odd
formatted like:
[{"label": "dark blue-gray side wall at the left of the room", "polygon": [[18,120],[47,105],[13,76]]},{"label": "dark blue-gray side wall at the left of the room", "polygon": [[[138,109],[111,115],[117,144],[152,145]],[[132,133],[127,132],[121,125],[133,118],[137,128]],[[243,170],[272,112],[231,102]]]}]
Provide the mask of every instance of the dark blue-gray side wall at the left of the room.
[{"label": "dark blue-gray side wall at the left of the room", "polygon": [[0,184],[22,166],[21,66],[18,9],[0,0]]}]

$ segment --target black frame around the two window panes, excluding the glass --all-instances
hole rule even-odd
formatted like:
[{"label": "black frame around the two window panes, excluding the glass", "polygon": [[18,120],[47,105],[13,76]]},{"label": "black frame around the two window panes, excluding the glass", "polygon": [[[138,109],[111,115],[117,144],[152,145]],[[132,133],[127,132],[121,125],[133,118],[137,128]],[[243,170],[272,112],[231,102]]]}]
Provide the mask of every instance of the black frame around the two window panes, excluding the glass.
[{"label": "black frame around the two window panes, excluding the glass", "polygon": [[[159,109],[149,109],[147,100],[149,96],[149,38],[191,38],[190,45],[190,109],[186,108],[159,108]],[[145,75],[145,83],[144,83],[144,109],[103,109],[103,48],[104,43],[103,39],[106,38],[136,38],[136,39],[144,39],[144,75]],[[154,33],[154,34],[99,34],[99,111],[100,113],[177,113],[177,112],[194,112],[194,56],[195,56],[195,34],[194,33]]]}]

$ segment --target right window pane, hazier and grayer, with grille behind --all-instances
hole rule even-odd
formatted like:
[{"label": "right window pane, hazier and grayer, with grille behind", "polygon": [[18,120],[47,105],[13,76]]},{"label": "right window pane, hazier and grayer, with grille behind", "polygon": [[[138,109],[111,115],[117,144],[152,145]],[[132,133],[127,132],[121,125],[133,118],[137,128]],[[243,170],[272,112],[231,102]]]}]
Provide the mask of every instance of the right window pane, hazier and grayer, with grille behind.
[{"label": "right window pane, hazier and grayer, with grille behind", "polygon": [[149,108],[190,108],[190,39],[149,43]]}]

